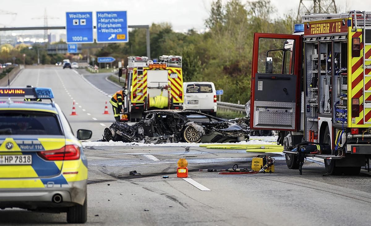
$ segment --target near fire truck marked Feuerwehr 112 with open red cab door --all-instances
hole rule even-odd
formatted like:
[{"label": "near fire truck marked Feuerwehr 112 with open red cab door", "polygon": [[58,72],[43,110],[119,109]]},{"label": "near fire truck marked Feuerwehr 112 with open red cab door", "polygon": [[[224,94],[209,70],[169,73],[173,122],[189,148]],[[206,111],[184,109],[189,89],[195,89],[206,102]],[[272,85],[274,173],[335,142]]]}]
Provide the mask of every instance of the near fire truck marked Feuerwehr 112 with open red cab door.
[{"label": "near fire truck marked Feuerwehr 112 with open red cab door", "polygon": [[289,169],[324,159],[358,175],[371,157],[371,12],[308,14],[294,34],[255,33],[250,126],[278,130]]}]

